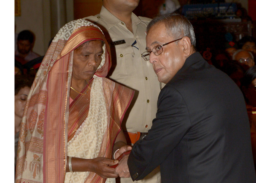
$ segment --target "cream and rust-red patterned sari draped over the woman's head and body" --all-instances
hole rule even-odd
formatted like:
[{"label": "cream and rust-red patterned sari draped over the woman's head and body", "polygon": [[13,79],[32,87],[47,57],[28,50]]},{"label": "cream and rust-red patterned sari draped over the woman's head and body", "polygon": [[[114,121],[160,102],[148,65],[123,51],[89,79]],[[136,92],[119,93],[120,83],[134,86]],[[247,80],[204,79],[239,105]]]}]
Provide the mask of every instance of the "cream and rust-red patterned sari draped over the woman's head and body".
[{"label": "cream and rust-red patterned sari draped over the woman's head and body", "polygon": [[[87,85],[81,91],[87,94],[79,94],[70,104],[74,49],[91,40],[105,43],[102,62],[89,81],[91,89]],[[113,144],[134,91],[105,78],[110,67],[110,48],[98,26],[79,19],[60,29],[27,98],[20,125],[16,183],[64,183],[69,149],[70,154],[75,153],[69,147],[79,139],[83,145],[90,143],[94,147],[84,158],[112,157]],[[96,141],[84,135],[86,130]],[[84,180],[105,181],[94,172],[87,172]]]}]

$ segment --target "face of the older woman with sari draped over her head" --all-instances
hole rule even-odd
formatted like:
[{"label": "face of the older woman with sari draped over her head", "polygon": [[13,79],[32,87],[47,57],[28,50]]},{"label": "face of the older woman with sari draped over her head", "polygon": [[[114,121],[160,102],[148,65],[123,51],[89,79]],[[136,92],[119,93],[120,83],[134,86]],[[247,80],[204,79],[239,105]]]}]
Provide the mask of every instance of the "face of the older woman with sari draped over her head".
[{"label": "face of the older woman with sari draped over her head", "polygon": [[102,61],[102,41],[93,40],[74,50],[73,76],[75,80],[90,80]]}]

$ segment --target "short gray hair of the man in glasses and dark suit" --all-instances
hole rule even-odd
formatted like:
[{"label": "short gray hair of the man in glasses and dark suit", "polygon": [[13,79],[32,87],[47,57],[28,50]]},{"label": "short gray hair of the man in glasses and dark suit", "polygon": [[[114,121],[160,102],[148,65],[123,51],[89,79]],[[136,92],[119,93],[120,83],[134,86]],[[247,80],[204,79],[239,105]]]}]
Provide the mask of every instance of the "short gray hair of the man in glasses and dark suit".
[{"label": "short gray hair of the man in glasses and dark suit", "polygon": [[189,22],[189,20],[186,19],[186,17],[177,13],[158,15],[157,17],[154,17],[151,20],[151,22],[148,24],[147,32],[156,23],[164,23],[166,26],[168,35],[173,36],[174,39],[179,39],[184,36],[189,37],[191,41],[191,45],[195,49],[194,28],[192,24]]}]

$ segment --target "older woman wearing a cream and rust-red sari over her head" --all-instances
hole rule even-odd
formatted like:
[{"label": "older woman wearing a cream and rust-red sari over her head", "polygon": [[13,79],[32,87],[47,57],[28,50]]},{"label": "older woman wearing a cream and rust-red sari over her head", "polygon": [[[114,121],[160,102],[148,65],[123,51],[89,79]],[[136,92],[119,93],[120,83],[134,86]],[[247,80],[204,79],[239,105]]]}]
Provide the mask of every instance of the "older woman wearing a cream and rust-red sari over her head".
[{"label": "older woman wearing a cream and rust-red sari over her head", "polygon": [[[74,20],[49,46],[21,122],[16,182],[114,182],[130,150],[121,130],[134,92],[107,78],[110,49],[98,26]],[[108,178],[107,177],[112,177]]]}]

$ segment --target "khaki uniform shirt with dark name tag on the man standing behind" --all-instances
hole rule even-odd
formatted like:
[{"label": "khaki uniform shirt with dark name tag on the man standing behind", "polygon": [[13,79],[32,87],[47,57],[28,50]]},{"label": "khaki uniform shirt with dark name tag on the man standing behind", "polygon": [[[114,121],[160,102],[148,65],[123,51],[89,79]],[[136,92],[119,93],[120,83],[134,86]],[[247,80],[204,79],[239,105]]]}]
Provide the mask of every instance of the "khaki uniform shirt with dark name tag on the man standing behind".
[{"label": "khaki uniform shirt with dark name tag on the man standing behind", "polygon": [[[111,46],[112,68],[109,78],[135,90],[129,115],[125,115],[122,128],[129,132],[147,132],[157,112],[157,98],[160,93],[160,82],[154,73],[152,64],[144,61],[141,54],[146,47],[146,26],[151,19],[131,15],[133,33],[125,23],[112,15],[102,6],[98,15],[85,17],[98,25]],[[115,41],[124,40],[124,44]],[[134,46],[131,46],[137,41]],[[116,44],[116,45],[114,45]],[[112,73],[113,72],[113,73]],[[128,114],[127,112],[127,114]]]}]

